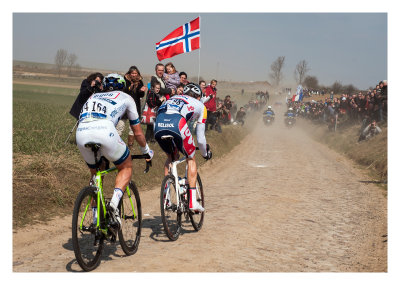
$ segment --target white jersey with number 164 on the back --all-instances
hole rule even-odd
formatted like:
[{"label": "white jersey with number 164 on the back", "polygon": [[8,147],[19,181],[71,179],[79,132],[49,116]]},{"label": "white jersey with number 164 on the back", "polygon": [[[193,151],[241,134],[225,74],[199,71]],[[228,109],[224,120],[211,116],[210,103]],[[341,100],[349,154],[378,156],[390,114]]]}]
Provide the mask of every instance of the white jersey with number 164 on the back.
[{"label": "white jersey with number 164 on the back", "polygon": [[131,125],[140,123],[135,101],[130,95],[122,91],[95,93],[83,105],[79,122],[107,119],[116,126],[125,113]]}]

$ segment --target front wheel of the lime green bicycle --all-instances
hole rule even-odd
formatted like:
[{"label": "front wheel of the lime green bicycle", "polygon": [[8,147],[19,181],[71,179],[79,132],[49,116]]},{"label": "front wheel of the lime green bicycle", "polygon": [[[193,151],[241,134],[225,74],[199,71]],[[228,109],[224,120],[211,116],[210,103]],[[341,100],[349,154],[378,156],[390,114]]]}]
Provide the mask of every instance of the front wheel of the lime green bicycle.
[{"label": "front wheel of the lime green bicycle", "polygon": [[126,255],[136,253],[142,232],[142,206],[140,204],[139,191],[133,182],[129,183],[129,190],[130,199],[127,191],[125,191],[119,203],[121,228],[118,231],[118,236],[119,243]]}]

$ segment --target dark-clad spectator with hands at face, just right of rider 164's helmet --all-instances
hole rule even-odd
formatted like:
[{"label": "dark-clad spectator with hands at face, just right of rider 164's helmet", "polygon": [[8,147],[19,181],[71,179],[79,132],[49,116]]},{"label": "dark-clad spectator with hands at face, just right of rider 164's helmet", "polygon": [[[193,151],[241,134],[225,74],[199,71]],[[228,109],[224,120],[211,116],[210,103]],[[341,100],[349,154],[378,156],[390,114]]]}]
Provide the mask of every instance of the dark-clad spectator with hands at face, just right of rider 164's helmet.
[{"label": "dark-clad spectator with hands at face, just right of rider 164's helmet", "polygon": [[[139,118],[141,116],[141,107],[140,107],[140,99],[144,97],[145,92],[147,91],[147,87],[143,84],[143,78],[140,75],[140,71],[136,66],[131,66],[127,73],[124,75],[124,79],[126,82],[126,86],[123,90],[126,94],[129,94],[136,104],[136,110],[139,114]],[[128,119],[125,114],[124,117],[119,120],[115,128],[119,136],[122,136],[122,133],[125,129],[125,122]],[[132,148],[133,142],[135,141],[135,136],[131,128],[129,128],[128,134],[128,148]]]}]

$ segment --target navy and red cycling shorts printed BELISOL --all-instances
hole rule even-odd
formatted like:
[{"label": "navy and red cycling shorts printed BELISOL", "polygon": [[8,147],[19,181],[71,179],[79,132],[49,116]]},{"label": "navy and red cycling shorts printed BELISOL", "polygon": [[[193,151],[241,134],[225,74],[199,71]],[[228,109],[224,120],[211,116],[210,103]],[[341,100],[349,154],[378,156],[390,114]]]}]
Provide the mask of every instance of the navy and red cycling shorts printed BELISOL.
[{"label": "navy and red cycling shorts printed BELISOL", "polygon": [[169,140],[161,138],[166,135],[173,137],[173,144],[186,157],[194,157],[196,146],[184,117],[180,114],[158,114],[154,127],[155,139],[165,153],[172,154],[173,146],[169,144]]}]

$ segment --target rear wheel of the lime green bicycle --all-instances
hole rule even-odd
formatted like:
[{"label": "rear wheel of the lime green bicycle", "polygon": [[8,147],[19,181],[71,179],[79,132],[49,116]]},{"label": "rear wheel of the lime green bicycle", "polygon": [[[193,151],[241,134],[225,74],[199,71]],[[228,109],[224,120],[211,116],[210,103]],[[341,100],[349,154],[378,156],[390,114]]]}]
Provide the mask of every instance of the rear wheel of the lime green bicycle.
[{"label": "rear wheel of the lime green bicycle", "polygon": [[92,205],[96,205],[95,187],[85,187],[79,192],[72,215],[72,245],[76,260],[85,271],[100,264],[104,237],[97,235]]}]

